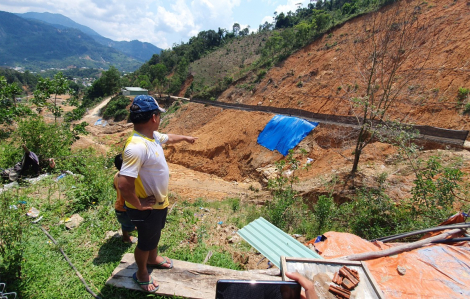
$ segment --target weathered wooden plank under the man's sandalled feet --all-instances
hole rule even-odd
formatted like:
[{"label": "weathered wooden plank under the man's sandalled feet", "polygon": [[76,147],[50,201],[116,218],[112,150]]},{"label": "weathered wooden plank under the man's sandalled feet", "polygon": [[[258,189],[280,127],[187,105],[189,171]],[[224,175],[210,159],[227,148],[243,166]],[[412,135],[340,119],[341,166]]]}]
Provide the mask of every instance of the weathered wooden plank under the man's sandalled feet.
[{"label": "weathered wooden plank under the man's sandalled feet", "polygon": [[[134,254],[126,253],[106,284],[142,291],[132,280],[132,274],[136,271]],[[160,284],[156,294],[194,299],[214,299],[219,279],[281,280],[279,269],[236,271],[179,260],[173,260],[171,270],[153,269],[150,272],[149,269],[149,273]]]}]

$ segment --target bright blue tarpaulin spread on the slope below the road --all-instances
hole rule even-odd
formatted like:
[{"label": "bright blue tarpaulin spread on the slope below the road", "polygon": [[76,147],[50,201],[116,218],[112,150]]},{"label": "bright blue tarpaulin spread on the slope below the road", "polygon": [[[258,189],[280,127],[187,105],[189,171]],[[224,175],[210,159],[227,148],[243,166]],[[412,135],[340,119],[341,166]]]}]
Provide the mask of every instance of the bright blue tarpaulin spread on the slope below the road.
[{"label": "bright blue tarpaulin spread on the slope below the road", "polygon": [[258,136],[258,143],[269,150],[278,150],[286,156],[310,131],[318,126],[317,122],[297,117],[275,115]]}]

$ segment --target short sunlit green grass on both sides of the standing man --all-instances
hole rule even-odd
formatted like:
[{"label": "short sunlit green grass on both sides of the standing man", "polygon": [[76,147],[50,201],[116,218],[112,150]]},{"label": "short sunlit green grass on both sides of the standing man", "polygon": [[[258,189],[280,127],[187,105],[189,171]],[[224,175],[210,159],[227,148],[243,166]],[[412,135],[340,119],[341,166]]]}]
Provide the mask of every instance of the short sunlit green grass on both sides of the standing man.
[{"label": "short sunlit green grass on both sides of the standing man", "polygon": [[[105,189],[112,188],[113,174],[114,170],[104,167],[95,173],[108,177],[109,184],[103,186]],[[79,212],[84,218],[79,227],[68,230],[64,224],[59,224],[61,219],[72,215],[70,211],[73,210],[71,205],[74,201],[66,192],[76,184],[77,178],[70,175],[57,182],[49,177],[37,184],[23,186],[1,195],[16,199],[24,199],[26,195],[26,208],[35,207],[43,216],[38,224],[29,224],[24,238],[26,249],[22,256],[21,279],[9,283],[7,290],[18,292],[21,298],[92,298],[59,248],[39,228],[43,226],[58,242],[91,290],[102,298],[164,298],[105,285],[122,256],[132,253],[135,245],[122,243],[120,238],[105,239],[106,232],[120,228],[114,214],[115,195],[111,192],[104,193],[108,194],[106,198]],[[246,217],[239,215],[244,214],[245,210],[252,210],[253,207],[238,207],[235,213],[232,202],[239,199],[223,202],[197,199],[190,203],[173,197],[172,201],[177,203],[168,216],[167,226],[162,233],[160,254],[178,260],[202,263],[208,251],[212,251],[208,265],[242,269],[233,261],[229,251],[248,251],[249,245],[230,245],[233,248],[227,250],[226,246],[211,245],[207,240],[214,235],[218,221],[223,221],[225,225],[246,223]],[[210,212],[204,209],[209,209]],[[203,213],[205,216],[201,216]],[[226,215],[230,215],[230,218]],[[189,241],[192,232],[197,234],[197,243]],[[240,248],[236,248],[237,246]]]}]

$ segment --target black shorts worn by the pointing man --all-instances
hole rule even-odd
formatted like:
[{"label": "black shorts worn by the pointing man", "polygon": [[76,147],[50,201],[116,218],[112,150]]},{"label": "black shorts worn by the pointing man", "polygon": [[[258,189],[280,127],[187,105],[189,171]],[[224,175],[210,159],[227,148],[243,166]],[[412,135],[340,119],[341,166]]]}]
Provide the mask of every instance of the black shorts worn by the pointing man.
[{"label": "black shorts worn by the pointing man", "polygon": [[158,246],[162,229],[165,227],[168,208],[161,210],[144,210],[127,208],[127,215],[137,227],[137,247],[143,251],[151,251]]}]

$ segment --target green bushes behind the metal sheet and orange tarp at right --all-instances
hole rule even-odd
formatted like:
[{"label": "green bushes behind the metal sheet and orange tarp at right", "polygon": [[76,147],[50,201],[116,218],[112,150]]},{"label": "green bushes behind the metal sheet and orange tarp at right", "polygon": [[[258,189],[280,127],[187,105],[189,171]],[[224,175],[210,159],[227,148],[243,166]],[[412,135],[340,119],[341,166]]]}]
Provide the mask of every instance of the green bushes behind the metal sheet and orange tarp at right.
[{"label": "green bushes behind the metal sheet and orange tarp at right", "polygon": [[[298,180],[295,172],[302,168],[291,151],[276,164],[279,175],[268,185],[273,199],[261,210],[261,215],[286,232],[306,235],[307,240],[331,230],[374,239],[437,226],[455,213],[454,204],[466,192],[461,164],[456,160],[444,165],[439,156],[415,161],[417,172],[410,198],[401,201],[390,198],[387,174],[383,173],[376,178],[376,187],[358,189],[350,201],[335,203],[329,193],[319,195],[309,208],[292,188]],[[330,187],[335,185],[344,182],[333,177]],[[468,204],[462,207],[465,211],[468,208]]]}]

